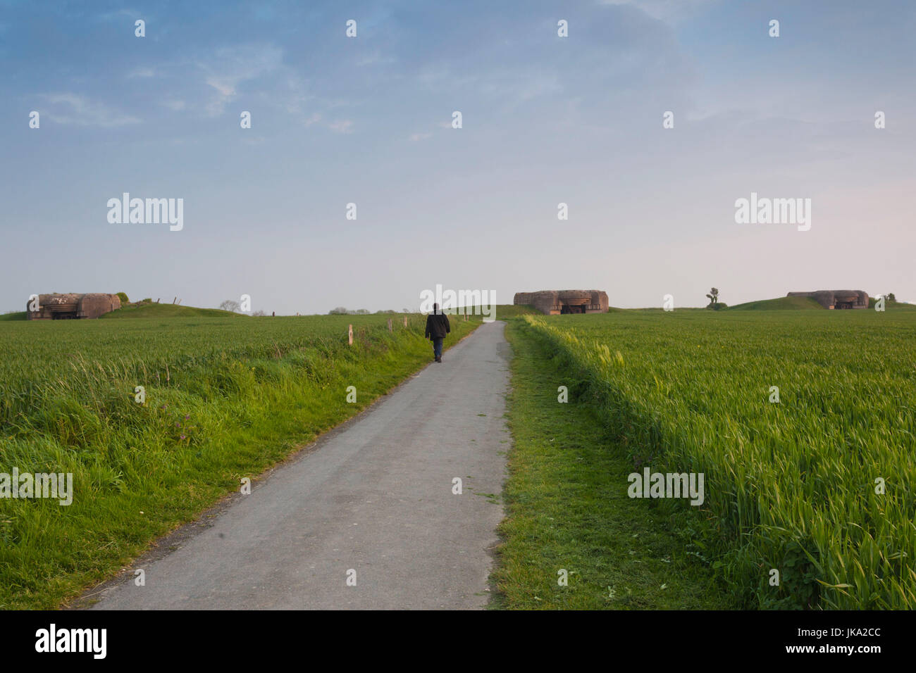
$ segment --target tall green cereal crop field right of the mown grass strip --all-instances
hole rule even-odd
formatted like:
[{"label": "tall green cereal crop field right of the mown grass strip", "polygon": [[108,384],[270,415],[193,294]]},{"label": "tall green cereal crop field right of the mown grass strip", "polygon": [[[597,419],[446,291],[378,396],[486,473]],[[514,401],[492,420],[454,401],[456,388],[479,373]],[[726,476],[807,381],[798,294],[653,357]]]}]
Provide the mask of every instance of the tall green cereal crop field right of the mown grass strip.
[{"label": "tall green cereal crop field right of the mown grass strip", "polygon": [[[700,507],[636,502],[692,513],[710,572],[739,604],[916,607],[916,315],[521,320],[566,367],[571,402],[597,409],[608,460],[704,473]],[[608,497],[628,485],[606,484]]]}]

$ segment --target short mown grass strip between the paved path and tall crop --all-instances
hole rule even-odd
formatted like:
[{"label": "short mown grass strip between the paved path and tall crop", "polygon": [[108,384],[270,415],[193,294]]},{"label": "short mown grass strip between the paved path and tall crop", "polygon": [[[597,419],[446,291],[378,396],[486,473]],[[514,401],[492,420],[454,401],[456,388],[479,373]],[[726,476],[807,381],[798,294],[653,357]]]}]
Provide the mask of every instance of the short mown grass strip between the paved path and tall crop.
[{"label": "short mown grass strip between the paved path and tall crop", "polygon": [[[493,607],[726,609],[736,607],[692,545],[689,519],[627,497],[627,450],[594,408],[557,401],[569,374],[520,320],[508,400],[514,448],[505,487]],[[558,571],[568,572],[560,586]]]}]

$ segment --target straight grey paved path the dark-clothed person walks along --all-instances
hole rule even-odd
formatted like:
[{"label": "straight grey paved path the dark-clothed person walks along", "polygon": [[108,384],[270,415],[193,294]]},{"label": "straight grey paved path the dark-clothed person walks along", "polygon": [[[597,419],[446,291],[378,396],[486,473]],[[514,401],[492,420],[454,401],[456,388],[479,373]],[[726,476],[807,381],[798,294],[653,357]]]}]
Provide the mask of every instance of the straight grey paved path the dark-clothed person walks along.
[{"label": "straight grey paved path the dark-clothed person walks along", "polygon": [[137,561],[93,609],[484,607],[511,445],[504,327],[481,326],[212,526]]}]

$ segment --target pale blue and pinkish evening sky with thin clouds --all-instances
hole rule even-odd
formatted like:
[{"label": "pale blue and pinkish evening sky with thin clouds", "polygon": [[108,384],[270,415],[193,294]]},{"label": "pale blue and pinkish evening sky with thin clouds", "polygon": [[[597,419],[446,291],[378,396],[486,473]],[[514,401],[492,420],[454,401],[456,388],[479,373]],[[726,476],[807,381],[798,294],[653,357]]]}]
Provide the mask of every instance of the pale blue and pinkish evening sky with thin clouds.
[{"label": "pale blue and pinkish evening sky with thin clouds", "polygon": [[[914,36],[910,0],[0,0],[0,310],[916,301]],[[110,222],[125,192],[180,231]],[[810,229],[736,223],[752,192]]]}]

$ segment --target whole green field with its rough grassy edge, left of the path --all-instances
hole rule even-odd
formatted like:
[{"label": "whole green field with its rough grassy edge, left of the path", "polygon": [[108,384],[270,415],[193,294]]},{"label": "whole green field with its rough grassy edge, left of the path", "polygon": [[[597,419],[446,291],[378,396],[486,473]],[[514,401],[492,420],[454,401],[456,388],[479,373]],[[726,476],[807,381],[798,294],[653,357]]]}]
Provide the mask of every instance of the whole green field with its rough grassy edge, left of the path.
[{"label": "whole green field with its rough grassy edge, left of the path", "polygon": [[[425,318],[388,317],[0,325],[0,472],[74,491],[0,499],[0,608],[57,607],[429,363]],[[453,318],[446,346],[478,324]]]}]

